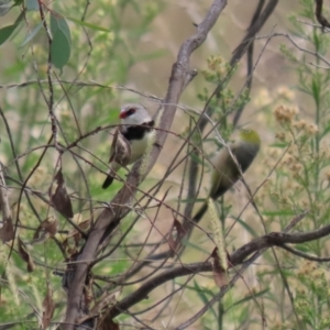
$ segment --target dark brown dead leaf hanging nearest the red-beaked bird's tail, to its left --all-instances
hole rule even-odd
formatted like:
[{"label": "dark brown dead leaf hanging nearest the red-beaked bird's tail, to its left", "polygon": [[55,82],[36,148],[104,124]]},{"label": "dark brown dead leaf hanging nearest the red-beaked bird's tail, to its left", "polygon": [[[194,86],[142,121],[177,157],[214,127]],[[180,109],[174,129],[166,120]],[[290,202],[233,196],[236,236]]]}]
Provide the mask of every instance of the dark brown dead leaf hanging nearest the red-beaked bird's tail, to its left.
[{"label": "dark brown dead leaf hanging nearest the red-beaked bird's tail, to its left", "polygon": [[73,205],[66,190],[62,168],[59,168],[59,170],[55,175],[54,180],[57,183],[57,187],[54,195],[52,195],[52,187],[50,188],[50,195],[52,196],[51,201],[53,202],[53,206],[56,211],[58,211],[66,218],[73,218]]}]

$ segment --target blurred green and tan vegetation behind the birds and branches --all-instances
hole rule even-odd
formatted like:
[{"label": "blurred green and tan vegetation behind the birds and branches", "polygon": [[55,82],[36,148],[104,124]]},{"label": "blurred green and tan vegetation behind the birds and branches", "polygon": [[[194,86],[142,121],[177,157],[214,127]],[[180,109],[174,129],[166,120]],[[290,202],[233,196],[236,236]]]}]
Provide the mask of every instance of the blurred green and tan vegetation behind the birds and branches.
[{"label": "blurred green and tan vegetation behind the birds and branches", "polygon": [[[59,161],[58,152],[52,147],[46,150],[40,164],[38,160],[52,138],[46,102],[50,98],[48,41],[40,12],[34,10],[38,7],[33,7],[37,2],[24,2],[31,6],[31,10],[25,12],[21,24],[0,46],[0,160],[7,167],[13,219],[22,226],[16,234],[26,244],[34,261],[34,271],[26,272],[26,260],[22,260],[16,245],[9,255],[11,243],[1,244],[0,329],[36,329],[50,286],[54,290],[56,306],[54,323],[50,327],[55,328],[56,321],[63,319],[66,293],[62,288],[61,276],[53,272],[63,274],[64,255],[73,254],[79,246],[73,239],[76,233],[73,233],[70,223],[35,191],[47,197],[62,165],[75,213],[73,221],[78,224],[96,218],[98,210],[122,186],[117,182],[110,189],[101,189],[113,132],[111,125],[118,123],[120,106],[139,101],[152,113],[155,112],[158,103],[150,96],[160,99],[165,96],[177,52],[182,43],[194,34],[194,24],[202,20],[211,2],[99,0],[90,3],[44,3],[45,12],[48,9],[48,21],[51,14],[55,18],[59,14],[69,28],[69,47],[63,51],[70,53],[69,59],[59,69],[53,67],[52,74],[58,141],[64,145],[79,142],[73,148],[76,157],[65,153]],[[244,36],[260,1],[248,2],[229,1],[206,43],[191,56],[190,67],[196,68],[199,75],[187,87],[180,101],[195,113],[201,112],[216,85],[228,74],[232,52]],[[252,191],[258,189],[254,197],[258,212],[251,205],[245,208],[249,198],[240,184],[219,201],[222,226],[226,231],[231,229],[226,238],[229,253],[265,232],[283,230],[290,219],[304,211],[308,215],[295,230],[310,231],[328,223],[329,31],[322,32],[314,12],[312,0],[280,1],[254,42],[255,69],[250,96],[245,94],[246,64],[243,57],[223,88],[221,102],[213,105],[217,108],[215,121],[226,114],[226,124],[219,127],[226,140],[235,136],[231,124],[233,113],[243,103],[245,108],[239,127],[255,129],[263,140],[262,151],[245,175]],[[324,12],[329,13],[328,8]],[[1,16],[0,29],[13,24],[20,13],[20,6],[13,7]],[[1,36],[3,33],[0,40]],[[172,127],[174,134],[168,135],[142,189],[147,190],[163,178],[183,138],[191,129],[188,118],[189,114],[182,108],[177,109]],[[98,131],[98,127],[108,128]],[[95,134],[89,135],[90,132]],[[85,134],[87,136],[80,140]],[[209,154],[217,150],[213,135],[204,143]],[[206,167],[200,199],[207,195],[210,168]],[[32,169],[35,169],[33,174]],[[173,170],[155,196],[161,200],[166,191],[165,204],[160,209],[147,210],[148,218],[157,217],[156,229],[152,230],[147,243],[157,242],[170,229],[173,215],[166,206],[178,210],[185,207],[183,170],[184,164]],[[24,195],[18,208],[22,184],[30,174],[32,176],[26,185],[34,191],[30,196],[33,208]],[[125,172],[122,174],[125,175]],[[64,254],[54,240],[29,245],[40,222],[53,215],[59,223],[56,240],[66,244]],[[127,217],[116,234],[124,233],[135,216],[132,212]],[[123,244],[145,242],[152,228],[148,218],[139,219]],[[207,219],[200,226],[210,231]],[[195,230],[187,245],[182,261],[189,263],[207,260],[213,243],[206,232]],[[118,249],[111,258],[97,264],[94,274],[99,276],[98,279],[101,276],[112,280],[120,276],[124,278],[123,274],[134,265],[133,249]],[[147,255],[148,249],[145,244],[139,257]],[[296,249],[316,256],[329,256],[327,239],[304,243]],[[148,272],[142,270],[133,279]],[[272,252],[264,253],[242,274],[242,280],[223,300],[209,308],[189,329],[329,329],[328,273],[324,263],[314,263],[277,250],[276,257]],[[130,279],[131,285],[123,287],[119,300],[140,286],[133,279]],[[100,283],[96,292],[105,285]],[[154,302],[161,300],[178,286],[185,289],[172,298],[170,304],[160,304],[139,316],[151,327],[147,329],[174,329],[219,290],[211,274],[199,274],[189,282],[178,278],[163,285],[148,298]],[[132,310],[144,310],[147,304],[142,301]],[[136,319],[129,315],[121,315],[117,321],[120,329],[146,329],[139,328]]]}]

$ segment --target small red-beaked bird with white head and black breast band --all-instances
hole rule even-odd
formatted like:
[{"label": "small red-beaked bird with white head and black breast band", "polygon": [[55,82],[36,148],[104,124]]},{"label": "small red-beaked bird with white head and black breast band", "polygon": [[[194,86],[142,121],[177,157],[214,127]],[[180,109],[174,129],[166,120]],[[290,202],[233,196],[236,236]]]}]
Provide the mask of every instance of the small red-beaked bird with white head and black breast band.
[{"label": "small red-beaked bird with white head and black breast band", "polygon": [[154,133],[154,121],[142,105],[128,103],[120,111],[121,124],[117,128],[111,150],[110,168],[102,188],[108,188],[120,167],[140,160],[146,151],[147,141]]}]

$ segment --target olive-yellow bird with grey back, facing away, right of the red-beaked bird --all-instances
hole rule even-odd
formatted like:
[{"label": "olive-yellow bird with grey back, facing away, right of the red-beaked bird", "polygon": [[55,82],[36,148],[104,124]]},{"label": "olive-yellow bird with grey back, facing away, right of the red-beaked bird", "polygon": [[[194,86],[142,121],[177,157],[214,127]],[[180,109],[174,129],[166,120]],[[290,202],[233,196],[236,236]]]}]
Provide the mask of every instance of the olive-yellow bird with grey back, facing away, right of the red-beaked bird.
[{"label": "olive-yellow bird with grey back, facing away, right of the red-beaked bird", "polygon": [[[213,172],[208,198],[216,200],[229,190],[239,180],[241,173],[244,173],[250,167],[258,153],[260,146],[261,140],[255,131],[249,129],[241,130],[239,141],[229,145],[232,155],[237,158],[237,163],[241,167],[241,172],[228,148],[223,147],[215,158],[211,160]],[[207,209],[208,205],[205,202],[194,217],[194,221],[198,222]]]}]

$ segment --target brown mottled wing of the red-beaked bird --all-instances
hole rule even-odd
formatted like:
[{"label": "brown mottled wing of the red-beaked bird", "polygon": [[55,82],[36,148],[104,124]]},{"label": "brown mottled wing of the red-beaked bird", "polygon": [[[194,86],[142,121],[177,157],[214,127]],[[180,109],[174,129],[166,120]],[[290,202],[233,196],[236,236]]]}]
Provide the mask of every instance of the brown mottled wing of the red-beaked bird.
[{"label": "brown mottled wing of the red-beaked bird", "polygon": [[116,162],[122,166],[130,164],[131,145],[130,142],[123,136],[120,128],[114,132],[109,163]]}]

